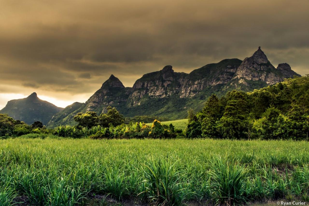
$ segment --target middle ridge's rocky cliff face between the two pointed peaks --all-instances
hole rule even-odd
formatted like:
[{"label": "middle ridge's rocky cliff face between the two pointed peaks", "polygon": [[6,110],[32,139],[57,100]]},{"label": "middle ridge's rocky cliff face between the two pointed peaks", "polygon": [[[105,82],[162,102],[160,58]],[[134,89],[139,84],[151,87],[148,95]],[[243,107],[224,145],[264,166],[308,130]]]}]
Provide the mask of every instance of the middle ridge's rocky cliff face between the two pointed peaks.
[{"label": "middle ridge's rocky cliff face between the two pointed peaks", "polygon": [[165,66],[161,71],[145,74],[135,82],[128,106],[140,105],[140,99],[145,95],[152,98],[171,95],[179,98],[193,97],[205,88],[229,82],[240,63],[239,59],[225,59],[196,69],[190,74],[174,72],[172,66]]}]

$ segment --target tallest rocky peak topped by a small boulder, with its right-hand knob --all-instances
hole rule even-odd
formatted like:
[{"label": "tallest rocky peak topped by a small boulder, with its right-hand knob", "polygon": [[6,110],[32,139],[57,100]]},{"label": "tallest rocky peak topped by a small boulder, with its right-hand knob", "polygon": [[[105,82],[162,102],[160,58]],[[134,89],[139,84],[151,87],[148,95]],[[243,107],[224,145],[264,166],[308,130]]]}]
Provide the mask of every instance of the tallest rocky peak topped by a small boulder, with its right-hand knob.
[{"label": "tallest rocky peak topped by a small boulder, with its right-hand knob", "polygon": [[251,57],[247,57],[243,60],[243,62],[237,69],[233,79],[239,79],[239,83],[243,84],[247,84],[243,80],[249,80],[262,81],[270,85],[281,82],[283,79],[293,77],[291,76],[292,72],[288,71],[289,69],[286,67],[286,65],[283,65],[279,67],[279,69],[276,69],[269,62],[268,58],[259,47],[259,49],[254,52]]}]

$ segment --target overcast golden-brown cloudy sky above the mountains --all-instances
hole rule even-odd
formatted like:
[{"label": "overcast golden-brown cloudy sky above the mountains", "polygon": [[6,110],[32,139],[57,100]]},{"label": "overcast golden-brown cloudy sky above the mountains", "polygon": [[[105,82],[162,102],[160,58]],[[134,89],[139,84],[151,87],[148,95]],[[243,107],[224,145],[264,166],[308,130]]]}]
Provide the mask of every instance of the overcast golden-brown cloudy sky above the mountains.
[{"label": "overcast golden-brown cloudy sky above the mountains", "polygon": [[37,92],[65,107],[113,74],[131,87],[172,65],[189,73],[258,46],[309,74],[309,1],[0,0],[0,109]]}]

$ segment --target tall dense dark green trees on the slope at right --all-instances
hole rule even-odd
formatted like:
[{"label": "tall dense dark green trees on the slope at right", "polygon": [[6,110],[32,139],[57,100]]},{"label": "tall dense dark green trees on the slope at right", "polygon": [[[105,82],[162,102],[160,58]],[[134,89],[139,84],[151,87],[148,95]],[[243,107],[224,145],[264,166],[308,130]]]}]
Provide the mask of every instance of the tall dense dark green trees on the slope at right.
[{"label": "tall dense dark green trees on the slope at right", "polygon": [[253,92],[211,95],[189,118],[188,138],[308,140],[309,76],[287,79]]}]

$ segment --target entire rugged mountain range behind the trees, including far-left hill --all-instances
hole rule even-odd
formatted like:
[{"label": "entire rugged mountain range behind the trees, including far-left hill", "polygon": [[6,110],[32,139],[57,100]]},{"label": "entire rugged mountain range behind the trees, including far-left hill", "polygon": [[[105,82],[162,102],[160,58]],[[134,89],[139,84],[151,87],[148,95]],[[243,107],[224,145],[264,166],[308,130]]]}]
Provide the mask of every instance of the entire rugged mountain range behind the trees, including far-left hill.
[{"label": "entire rugged mountain range behind the trees, including far-left hill", "polygon": [[[73,117],[78,112],[95,111],[100,114],[106,112],[108,105],[116,107],[125,117],[155,115],[180,119],[186,117],[190,108],[200,110],[212,93],[220,96],[233,89],[251,91],[276,84],[294,75],[300,76],[287,63],[281,63],[275,68],[259,47],[251,57],[243,61],[237,58],[224,59],[193,70],[189,74],[174,72],[172,66],[168,65],[160,71],[143,75],[136,80],[133,87],[125,87],[118,78],[111,75],[85,103],[75,102],[64,109],[40,109],[49,109],[48,127],[74,124]],[[24,99],[12,101],[22,102]],[[23,121],[27,117],[27,121],[30,121],[28,116],[33,115],[26,115],[31,113],[27,105],[15,103],[16,106],[12,107],[12,101],[9,101],[0,113],[10,116],[14,114],[17,119]],[[48,117],[44,117],[44,124]],[[39,118],[43,119],[42,116],[36,117]]]}]

